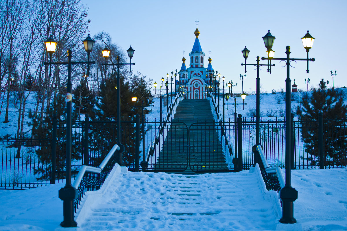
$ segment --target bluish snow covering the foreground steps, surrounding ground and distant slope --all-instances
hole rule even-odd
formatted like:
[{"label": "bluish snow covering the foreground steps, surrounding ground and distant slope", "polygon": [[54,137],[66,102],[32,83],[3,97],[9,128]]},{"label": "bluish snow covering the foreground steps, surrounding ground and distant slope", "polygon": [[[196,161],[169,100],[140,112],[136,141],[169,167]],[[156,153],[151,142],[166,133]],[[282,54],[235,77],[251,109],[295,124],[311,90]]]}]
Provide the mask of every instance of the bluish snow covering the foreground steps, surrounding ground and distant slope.
[{"label": "bluish snow covering the foreground steps, surrounding ground and distant slope", "polygon": [[[276,95],[262,95],[261,110],[284,108],[284,102],[276,103]],[[239,103],[240,97],[237,100]],[[222,99],[220,102],[222,105]],[[237,112],[245,115],[255,107],[255,96],[247,96],[246,102],[245,111],[238,107]],[[159,99],[154,105],[149,121],[159,118]],[[164,116],[166,107],[162,109]],[[4,115],[1,113],[1,120]],[[234,118],[233,105],[226,110],[226,120],[229,118]],[[1,135],[15,134],[15,114],[10,119],[10,123],[1,123]],[[347,230],[346,168],[292,170],[291,185],[298,191],[294,202],[297,224],[283,225],[279,223],[278,194],[266,191],[257,167],[238,173],[178,175],[129,172],[115,166],[100,190],[87,192],[76,214],[77,228],[59,225],[63,212],[58,190],[65,180],[27,190],[0,190],[0,231]]]}]

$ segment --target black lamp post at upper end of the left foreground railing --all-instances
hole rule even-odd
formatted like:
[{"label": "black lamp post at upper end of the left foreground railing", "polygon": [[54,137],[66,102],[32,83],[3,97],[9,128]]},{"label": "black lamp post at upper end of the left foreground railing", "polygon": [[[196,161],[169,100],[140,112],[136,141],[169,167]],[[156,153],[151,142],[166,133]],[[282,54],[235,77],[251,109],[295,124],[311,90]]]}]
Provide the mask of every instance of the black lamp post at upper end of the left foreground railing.
[{"label": "black lamp post at upper end of the left foreground railing", "polygon": [[120,75],[119,75],[119,67],[120,65],[130,65],[130,72],[131,72],[131,65],[135,65],[135,63],[131,62],[131,58],[134,55],[134,49],[130,46],[130,48],[127,50],[128,56],[130,58],[130,63],[119,63],[120,57],[117,55],[117,63],[107,63],[107,58],[110,55],[110,52],[103,52],[102,55],[105,57],[105,63],[102,63],[101,65],[105,65],[105,68],[107,68],[108,65],[115,66],[117,65],[117,145],[119,146],[119,160],[117,161],[119,165],[123,165],[123,152],[124,152],[124,145],[121,143],[121,136],[120,136]]}]

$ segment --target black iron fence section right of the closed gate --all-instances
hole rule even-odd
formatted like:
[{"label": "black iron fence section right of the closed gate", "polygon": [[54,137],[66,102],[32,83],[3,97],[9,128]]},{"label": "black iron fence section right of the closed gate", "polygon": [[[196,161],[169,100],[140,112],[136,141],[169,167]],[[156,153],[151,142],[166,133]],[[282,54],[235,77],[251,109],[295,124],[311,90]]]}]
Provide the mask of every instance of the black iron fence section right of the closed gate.
[{"label": "black iron fence section right of the closed gate", "polygon": [[[255,119],[242,121],[243,169],[254,165],[252,147],[255,145]],[[226,134],[235,143],[234,122],[226,122]],[[318,121],[293,121],[292,165],[293,169],[319,169]],[[270,167],[285,167],[285,121],[278,118],[260,121],[260,145]],[[323,123],[323,154],[325,168],[347,166],[347,121],[326,120]],[[305,142],[302,134],[312,136]]]}]

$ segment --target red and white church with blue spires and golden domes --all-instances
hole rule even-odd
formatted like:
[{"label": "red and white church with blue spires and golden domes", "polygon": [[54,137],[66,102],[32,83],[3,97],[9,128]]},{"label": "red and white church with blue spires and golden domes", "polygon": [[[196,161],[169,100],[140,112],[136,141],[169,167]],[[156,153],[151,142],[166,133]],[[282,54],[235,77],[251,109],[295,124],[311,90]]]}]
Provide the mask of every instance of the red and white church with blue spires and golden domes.
[{"label": "red and white church with blue spires and golden domes", "polygon": [[[206,91],[212,91],[215,85],[212,81],[215,80],[214,70],[209,57],[209,64],[204,68],[204,52],[202,52],[199,42],[200,32],[197,29],[194,32],[195,42],[192,52],[189,54],[189,67],[186,68],[185,57],[183,55],[183,63],[179,71],[179,80],[176,82],[176,90],[181,89],[184,92],[185,99],[205,99]],[[216,71],[217,74],[217,71]],[[212,86],[211,86],[212,85]],[[211,87],[210,87],[211,86]]]}]

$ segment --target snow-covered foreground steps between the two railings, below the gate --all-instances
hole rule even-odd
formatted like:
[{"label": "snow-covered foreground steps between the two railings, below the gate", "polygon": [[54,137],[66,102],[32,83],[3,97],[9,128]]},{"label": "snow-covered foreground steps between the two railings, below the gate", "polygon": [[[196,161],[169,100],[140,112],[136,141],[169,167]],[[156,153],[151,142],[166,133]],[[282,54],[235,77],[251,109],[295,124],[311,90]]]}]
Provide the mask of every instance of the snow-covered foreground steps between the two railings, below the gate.
[{"label": "snow-covered foreground steps between the two railings, below the gate", "polygon": [[107,190],[87,193],[90,202],[77,219],[81,230],[273,230],[278,223],[277,193],[264,191],[257,169],[113,175]]}]

